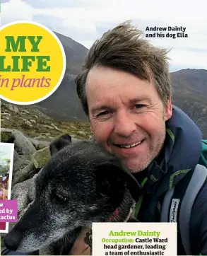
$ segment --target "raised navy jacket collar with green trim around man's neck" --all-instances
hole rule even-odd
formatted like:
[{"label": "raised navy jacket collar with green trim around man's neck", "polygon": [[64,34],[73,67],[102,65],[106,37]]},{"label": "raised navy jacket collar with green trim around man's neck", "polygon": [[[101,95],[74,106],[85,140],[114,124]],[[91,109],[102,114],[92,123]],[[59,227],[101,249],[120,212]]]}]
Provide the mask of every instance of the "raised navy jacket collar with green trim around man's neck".
[{"label": "raised navy jacket collar with green trim around man's neck", "polygon": [[159,197],[182,180],[201,156],[202,134],[196,124],[178,107],[172,106],[172,117],[166,122],[163,159],[148,166],[146,193]]}]

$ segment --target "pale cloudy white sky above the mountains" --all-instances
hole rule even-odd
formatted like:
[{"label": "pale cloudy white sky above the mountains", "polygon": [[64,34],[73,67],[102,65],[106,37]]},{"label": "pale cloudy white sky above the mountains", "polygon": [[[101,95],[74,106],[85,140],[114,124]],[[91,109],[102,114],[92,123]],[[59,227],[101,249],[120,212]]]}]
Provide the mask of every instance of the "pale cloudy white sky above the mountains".
[{"label": "pale cloudy white sky above the mountains", "polygon": [[[171,49],[170,71],[207,69],[206,0],[1,0],[1,25],[36,21],[89,48],[105,31],[126,20],[146,27],[182,27],[187,38],[155,37],[153,45]],[[170,33],[176,33],[172,32]]]}]

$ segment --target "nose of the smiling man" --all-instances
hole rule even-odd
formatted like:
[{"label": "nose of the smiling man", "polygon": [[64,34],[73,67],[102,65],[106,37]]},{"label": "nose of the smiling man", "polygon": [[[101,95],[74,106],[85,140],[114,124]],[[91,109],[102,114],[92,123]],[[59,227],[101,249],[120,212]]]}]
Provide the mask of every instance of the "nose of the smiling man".
[{"label": "nose of the smiling man", "polygon": [[131,136],[136,131],[136,123],[129,113],[120,113],[114,120],[114,132],[119,136]]}]

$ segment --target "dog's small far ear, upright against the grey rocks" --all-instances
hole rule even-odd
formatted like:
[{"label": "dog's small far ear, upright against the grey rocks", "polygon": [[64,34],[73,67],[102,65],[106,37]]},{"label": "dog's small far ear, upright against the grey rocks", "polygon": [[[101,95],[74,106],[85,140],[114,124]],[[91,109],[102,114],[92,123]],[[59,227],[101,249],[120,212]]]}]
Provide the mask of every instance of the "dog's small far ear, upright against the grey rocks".
[{"label": "dog's small far ear, upright against the grey rocks", "polygon": [[69,144],[71,144],[71,136],[69,134],[64,134],[58,139],[55,139],[54,141],[52,141],[51,144],[49,144],[49,151],[51,156],[53,156],[55,153],[63,149],[65,146],[68,146]]}]

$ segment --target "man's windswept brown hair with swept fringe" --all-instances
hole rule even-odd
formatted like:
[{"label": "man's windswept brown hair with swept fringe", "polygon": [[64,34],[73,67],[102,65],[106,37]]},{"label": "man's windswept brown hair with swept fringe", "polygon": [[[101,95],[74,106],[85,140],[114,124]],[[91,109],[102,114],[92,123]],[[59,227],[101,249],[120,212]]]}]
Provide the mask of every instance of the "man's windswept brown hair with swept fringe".
[{"label": "man's windswept brown hair with swept fringe", "polygon": [[134,28],[129,21],[108,30],[90,48],[81,74],[76,78],[78,97],[86,115],[88,103],[85,82],[88,72],[94,66],[106,66],[129,72],[145,81],[155,83],[162,103],[172,96],[167,50],[154,47],[141,38],[141,30]]}]

